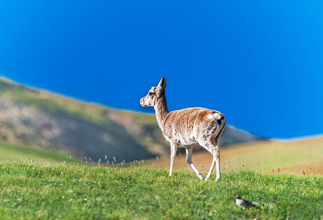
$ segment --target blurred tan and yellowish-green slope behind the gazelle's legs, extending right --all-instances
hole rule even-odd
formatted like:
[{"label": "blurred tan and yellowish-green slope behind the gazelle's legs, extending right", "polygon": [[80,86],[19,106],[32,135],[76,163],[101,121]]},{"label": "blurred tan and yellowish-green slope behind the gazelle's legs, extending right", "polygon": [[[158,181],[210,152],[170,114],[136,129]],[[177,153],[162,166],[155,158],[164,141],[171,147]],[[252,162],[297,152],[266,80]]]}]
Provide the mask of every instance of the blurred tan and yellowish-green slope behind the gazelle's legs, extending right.
[{"label": "blurred tan and yellowish-green slope behind the gazelle's legs, extending right", "polygon": [[[212,155],[206,151],[193,152],[192,160],[201,172],[207,172]],[[148,167],[169,168],[169,157],[152,159]],[[191,170],[185,153],[175,158],[174,169]],[[253,170],[260,173],[290,173],[323,175],[323,137],[294,141],[260,141],[221,148],[221,170],[233,172]]]}]

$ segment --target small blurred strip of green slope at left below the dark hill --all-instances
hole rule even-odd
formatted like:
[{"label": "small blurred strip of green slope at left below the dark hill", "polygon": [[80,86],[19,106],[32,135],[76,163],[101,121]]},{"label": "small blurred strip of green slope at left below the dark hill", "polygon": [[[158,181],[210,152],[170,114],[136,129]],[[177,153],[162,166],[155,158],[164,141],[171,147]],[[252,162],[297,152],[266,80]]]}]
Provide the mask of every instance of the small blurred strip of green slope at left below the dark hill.
[{"label": "small blurred strip of green slope at left below the dark hill", "polygon": [[34,146],[0,143],[0,161],[77,162],[78,159],[62,150],[43,149]]}]

